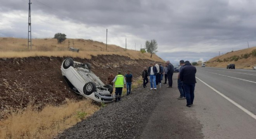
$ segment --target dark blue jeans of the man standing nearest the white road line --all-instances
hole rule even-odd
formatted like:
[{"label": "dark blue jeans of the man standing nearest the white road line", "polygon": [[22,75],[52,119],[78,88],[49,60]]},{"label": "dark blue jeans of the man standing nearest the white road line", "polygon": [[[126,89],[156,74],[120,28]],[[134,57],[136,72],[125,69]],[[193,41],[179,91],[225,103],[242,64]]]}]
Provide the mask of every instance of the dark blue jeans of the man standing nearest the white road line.
[{"label": "dark blue jeans of the man standing nearest the white road line", "polygon": [[183,86],[186,93],[187,105],[193,104],[195,97],[195,83],[183,83]]}]

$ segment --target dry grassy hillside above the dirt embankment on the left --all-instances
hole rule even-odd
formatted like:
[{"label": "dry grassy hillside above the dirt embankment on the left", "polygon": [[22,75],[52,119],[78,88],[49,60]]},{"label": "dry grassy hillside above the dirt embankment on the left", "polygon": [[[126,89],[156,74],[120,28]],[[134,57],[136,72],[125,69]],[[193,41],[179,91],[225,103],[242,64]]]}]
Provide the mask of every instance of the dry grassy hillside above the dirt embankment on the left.
[{"label": "dry grassy hillside above the dirt embankment on the left", "polygon": [[[79,53],[68,51],[69,47],[80,49]],[[126,50],[116,45],[85,39],[66,39],[61,44],[57,39],[32,39],[32,51],[28,51],[28,39],[0,37],[0,58],[24,58],[29,56],[70,56],[73,58],[90,59],[91,56],[112,55],[128,56],[131,59],[150,59],[163,61],[157,55],[150,58],[149,53]]]}]

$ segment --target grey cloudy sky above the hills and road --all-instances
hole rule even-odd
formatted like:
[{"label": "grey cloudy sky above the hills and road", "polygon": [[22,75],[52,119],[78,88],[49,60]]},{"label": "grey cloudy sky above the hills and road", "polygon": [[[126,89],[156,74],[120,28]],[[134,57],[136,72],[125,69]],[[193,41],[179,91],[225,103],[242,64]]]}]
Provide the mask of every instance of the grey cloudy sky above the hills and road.
[{"label": "grey cloudy sky above the hills and road", "polygon": [[[256,46],[256,0],[31,0],[33,38],[93,39],[136,50],[156,39],[157,55],[206,61]],[[28,36],[28,0],[1,0],[0,37]]]}]

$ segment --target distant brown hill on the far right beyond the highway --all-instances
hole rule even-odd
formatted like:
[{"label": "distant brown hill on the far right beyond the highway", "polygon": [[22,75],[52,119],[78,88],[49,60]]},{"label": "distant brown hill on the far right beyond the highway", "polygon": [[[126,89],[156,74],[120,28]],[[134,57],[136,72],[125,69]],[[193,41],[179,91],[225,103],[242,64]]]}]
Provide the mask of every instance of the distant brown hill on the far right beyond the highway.
[{"label": "distant brown hill on the far right beyond the highway", "polygon": [[256,65],[256,47],[228,52],[221,56],[216,56],[206,62],[206,66],[227,67],[228,64],[235,64],[236,68],[251,69]]}]

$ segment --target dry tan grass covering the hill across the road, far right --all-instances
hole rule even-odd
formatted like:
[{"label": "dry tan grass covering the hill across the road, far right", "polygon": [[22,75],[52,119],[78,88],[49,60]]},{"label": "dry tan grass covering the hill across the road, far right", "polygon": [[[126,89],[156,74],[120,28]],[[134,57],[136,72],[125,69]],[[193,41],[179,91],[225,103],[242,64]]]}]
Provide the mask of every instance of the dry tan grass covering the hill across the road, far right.
[{"label": "dry tan grass covering the hill across the road, far right", "polygon": [[[249,54],[251,53],[256,47],[251,47],[248,49],[242,49],[239,51],[229,52],[223,54],[221,56],[216,56],[209,61],[207,61],[206,66],[213,66],[213,67],[227,67],[228,64],[232,63],[235,64],[236,68],[249,68],[251,69],[253,66],[256,65],[256,56],[250,56],[249,58],[239,59],[238,61],[226,61],[224,59],[228,59],[232,56],[241,56],[241,54]],[[217,62],[217,59],[220,59],[223,62]]]}]

